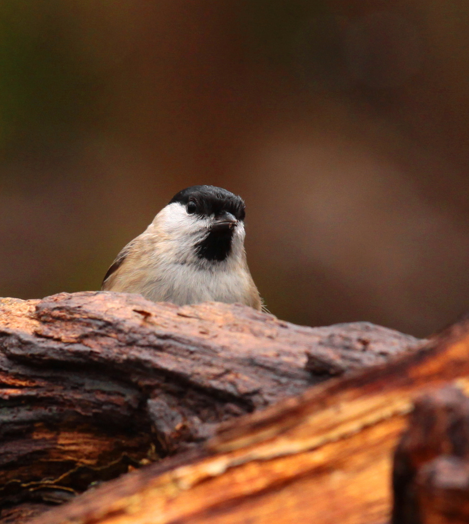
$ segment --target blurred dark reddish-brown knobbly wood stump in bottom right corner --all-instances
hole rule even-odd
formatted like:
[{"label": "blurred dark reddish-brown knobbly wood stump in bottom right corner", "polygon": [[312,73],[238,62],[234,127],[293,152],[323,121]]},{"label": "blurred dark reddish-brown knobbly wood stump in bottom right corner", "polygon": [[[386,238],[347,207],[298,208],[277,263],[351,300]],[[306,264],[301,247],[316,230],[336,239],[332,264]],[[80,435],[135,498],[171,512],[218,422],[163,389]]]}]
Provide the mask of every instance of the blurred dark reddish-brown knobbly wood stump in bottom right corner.
[{"label": "blurred dark reddish-brown knobbly wood stump in bottom right corner", "polygon": [[416,402],[397,446],[393,524],[469,522],[469,399],[452,387]]}]

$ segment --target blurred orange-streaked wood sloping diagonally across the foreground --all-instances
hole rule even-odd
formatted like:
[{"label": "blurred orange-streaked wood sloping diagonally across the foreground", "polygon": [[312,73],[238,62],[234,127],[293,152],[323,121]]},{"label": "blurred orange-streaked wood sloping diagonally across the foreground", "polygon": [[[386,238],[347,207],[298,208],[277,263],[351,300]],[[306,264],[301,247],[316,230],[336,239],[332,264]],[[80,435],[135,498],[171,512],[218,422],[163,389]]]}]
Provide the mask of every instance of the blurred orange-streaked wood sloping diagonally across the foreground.
[{"label": "blurred orange-streaked wood sloping diagonally across the foreground", "polygon": [[412,403],[448,383],[469,390],[468,321],[414,354],[228,422],[166,470],[143,468],[32,522],[385,524]]}]

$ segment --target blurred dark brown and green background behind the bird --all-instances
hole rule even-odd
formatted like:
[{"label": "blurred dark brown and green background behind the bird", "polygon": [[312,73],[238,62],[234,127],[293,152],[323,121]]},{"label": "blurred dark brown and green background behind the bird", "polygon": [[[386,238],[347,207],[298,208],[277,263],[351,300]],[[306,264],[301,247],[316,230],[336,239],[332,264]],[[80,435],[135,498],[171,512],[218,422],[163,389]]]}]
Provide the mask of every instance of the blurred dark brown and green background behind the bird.
[{"label": "blurred dark brown and green background behind the bird", "polygon": [[0,295],[99,289],[177,191],[247,203],[267,307],[469,311],[465,0],[4,0]]}]

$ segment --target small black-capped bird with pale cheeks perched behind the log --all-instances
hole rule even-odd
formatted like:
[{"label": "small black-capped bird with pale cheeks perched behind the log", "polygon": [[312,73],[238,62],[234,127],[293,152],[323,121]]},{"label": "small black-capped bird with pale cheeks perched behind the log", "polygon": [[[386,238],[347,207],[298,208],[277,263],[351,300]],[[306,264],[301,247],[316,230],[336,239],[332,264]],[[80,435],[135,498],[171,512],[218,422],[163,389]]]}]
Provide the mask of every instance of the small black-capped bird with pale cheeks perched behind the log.
[{"label": "small black-capped bird with pale cheeks perched behind the log", "polygon": [[241,302],[260,310],[244,250],[244,214],[241,197],[226,189],[183,189],[121,250],[101,289],[155,302]]}]

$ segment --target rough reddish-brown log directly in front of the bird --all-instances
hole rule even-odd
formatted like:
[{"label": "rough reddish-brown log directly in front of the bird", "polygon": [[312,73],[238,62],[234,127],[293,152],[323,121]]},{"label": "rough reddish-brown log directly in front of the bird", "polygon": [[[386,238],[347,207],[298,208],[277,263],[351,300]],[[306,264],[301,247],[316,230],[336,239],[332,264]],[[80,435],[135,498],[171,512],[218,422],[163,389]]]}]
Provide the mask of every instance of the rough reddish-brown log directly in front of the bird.
[{"label": "rough reddish-brown log directly in front of the bird", "polygon": [[[369,323],[305,328],[236,304],[3,299],[0,501],[26,500],[26,515],[191,446],[200,459],[221,422],[416,344]],[[3,522],[20,522],[12,511]]]}]

